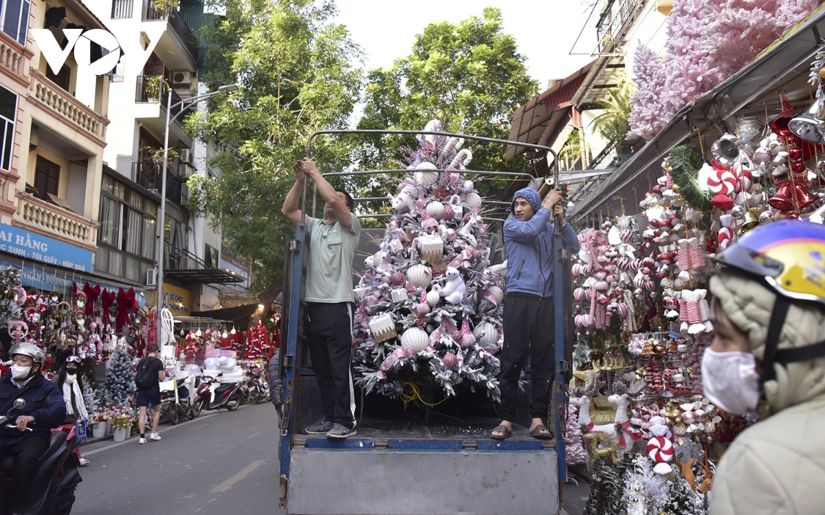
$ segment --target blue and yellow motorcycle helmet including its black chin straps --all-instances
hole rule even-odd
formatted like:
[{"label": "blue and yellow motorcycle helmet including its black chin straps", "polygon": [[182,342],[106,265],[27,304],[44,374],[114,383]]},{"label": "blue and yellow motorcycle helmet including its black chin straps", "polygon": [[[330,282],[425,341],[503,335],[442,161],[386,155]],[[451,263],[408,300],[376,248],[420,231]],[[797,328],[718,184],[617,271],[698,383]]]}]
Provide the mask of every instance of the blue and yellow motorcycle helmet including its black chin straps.
[{"label": "blue and yellow motorcycle helmet including its black chin straps", "polygon": [[790,302],[825,307],[825,226],[801,220],[771,222],[747,232],[711,260],[747,274],[777,293],[762,360],[762,384],[775,379],[774,363],[825,357],[825,340],[777,349]]}]

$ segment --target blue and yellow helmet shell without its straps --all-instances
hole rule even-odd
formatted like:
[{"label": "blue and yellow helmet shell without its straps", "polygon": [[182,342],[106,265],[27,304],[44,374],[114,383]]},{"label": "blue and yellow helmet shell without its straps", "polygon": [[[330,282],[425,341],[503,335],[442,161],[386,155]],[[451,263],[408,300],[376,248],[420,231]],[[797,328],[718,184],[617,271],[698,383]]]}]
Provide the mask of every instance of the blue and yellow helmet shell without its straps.
[{"label": "blue and yellow helmet shell without its straps", "polygon": [[713,258],[764,279],[776,293],[825,304],[825,226],[801,220],[754,228]]}]

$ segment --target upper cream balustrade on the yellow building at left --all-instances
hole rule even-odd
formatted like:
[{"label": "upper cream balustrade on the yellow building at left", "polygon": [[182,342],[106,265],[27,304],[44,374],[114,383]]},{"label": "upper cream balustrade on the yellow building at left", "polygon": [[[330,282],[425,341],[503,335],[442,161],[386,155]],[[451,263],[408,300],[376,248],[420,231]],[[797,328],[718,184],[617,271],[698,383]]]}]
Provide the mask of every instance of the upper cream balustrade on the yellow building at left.
[{"label": "upper cream balustrade on the yellow building at left", "polygon": [[52,111],[74,129],[81,129],[79,132],[97,139],[101,145],[105,144],[103,141],[109,119],[98,115],[35,69],[31,70],[31,89],[35,92],[34,98],[45,110]]}]

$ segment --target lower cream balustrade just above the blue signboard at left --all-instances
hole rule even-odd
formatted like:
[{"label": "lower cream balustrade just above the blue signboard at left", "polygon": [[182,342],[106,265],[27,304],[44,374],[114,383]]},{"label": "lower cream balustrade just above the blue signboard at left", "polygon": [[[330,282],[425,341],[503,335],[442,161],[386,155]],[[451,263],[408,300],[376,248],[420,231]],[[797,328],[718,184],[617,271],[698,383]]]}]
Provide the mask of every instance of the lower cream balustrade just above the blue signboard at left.
[{"label": "lower cream balustrade just above the blue signboard at left", "polygon": [[46,236],[54,236],[88,250],[97,249],[97,222],[37,199],[31,194],[17,191],[16,195],[19,199],[18,213],[21,213],[25,225]]}]

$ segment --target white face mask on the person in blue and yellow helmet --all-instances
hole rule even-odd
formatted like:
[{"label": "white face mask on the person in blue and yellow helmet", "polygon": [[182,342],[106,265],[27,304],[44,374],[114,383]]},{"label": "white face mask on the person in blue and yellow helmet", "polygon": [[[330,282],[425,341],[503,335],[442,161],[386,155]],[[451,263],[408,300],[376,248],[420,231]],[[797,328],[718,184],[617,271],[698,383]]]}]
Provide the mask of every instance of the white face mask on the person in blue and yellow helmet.
[{"label": "white face mask on the person in blue and yellow helmet", "polygon": [[733,414],[747,414],[759,403],[757,358],[752,353],[717,353],[702,356],[702,388],[711,403]]}]

